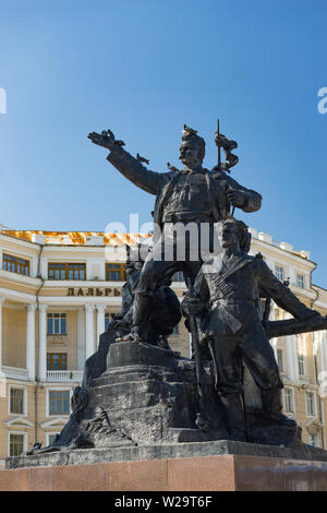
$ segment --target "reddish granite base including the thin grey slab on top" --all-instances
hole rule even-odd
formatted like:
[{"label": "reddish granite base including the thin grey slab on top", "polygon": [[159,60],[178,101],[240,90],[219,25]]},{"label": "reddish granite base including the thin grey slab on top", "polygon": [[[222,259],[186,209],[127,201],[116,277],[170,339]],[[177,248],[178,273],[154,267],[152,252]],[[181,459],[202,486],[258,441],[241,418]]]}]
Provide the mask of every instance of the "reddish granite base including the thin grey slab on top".
[{"label": "reddish granite base including the thin grey slab on top", "polygon": [[324,453],[219,441],[39,454],[8,460],[0,490],[327,491]]}]

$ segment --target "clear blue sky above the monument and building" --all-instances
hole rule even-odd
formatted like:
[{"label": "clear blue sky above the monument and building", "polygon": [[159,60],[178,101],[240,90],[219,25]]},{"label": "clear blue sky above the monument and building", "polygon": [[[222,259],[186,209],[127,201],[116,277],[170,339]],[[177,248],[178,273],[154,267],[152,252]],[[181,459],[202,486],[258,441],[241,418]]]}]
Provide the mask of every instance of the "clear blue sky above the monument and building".
[{"label": "clear blue sky above the monument and building", "polygon": [[263,194],[240,218],[312,252],[327,287],[326,0],[11,0],[0,5],[0,222],[104,230],[154,196],[87,140],[111,128],[155,170],[183,123],[239,142],[233,176]]}]

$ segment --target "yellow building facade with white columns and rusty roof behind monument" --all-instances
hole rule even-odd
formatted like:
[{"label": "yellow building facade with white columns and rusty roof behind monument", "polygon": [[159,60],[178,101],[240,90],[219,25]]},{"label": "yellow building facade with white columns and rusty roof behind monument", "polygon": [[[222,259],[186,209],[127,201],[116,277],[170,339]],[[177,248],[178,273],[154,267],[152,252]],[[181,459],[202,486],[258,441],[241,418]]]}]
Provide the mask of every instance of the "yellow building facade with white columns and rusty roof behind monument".
[{"label": "yellow building facade with white columns and rusty roof behind monument", "polygon": [[[310,253],[251,231],[251,253],[261,252],[303,302],[326,314],[327,291],[312,285],[316,264]],[[0,463],[36,441],[48,444],[68,421],[85,359],[121,309],[125,244],[136,242],[131,234],[0,231]],[[172,288],[182,298],[180,274]],[[275,305],[270,315],[289,317]],[[170,345],[190,356],[183,321]],[[326,448],[326,332],[271,345],[284,382],[284,411],[302,427],[305,442]]]}]

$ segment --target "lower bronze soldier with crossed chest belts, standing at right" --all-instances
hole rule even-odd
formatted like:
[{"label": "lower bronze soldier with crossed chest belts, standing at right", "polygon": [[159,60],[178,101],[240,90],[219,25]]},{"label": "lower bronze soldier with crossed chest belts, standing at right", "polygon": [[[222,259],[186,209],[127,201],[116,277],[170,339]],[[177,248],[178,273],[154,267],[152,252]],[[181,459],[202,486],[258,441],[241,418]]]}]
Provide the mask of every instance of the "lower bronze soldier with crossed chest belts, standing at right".
[{"label": "lower bronze soldier with crossed chest belts, standing at right", "polygon": [[221,252],[205,262],[195,279],[193,297],[185,297],[183,313],[197,315],[203,343],[215,368],[216,390],[226,414],[231,440],[246,441],[242,404],[242,360],[261,390],[268,422],[296,426],[281,413],[283,387],[278,365],[261,320],[259,297],[271,297],[296,319],[318,315],[279,282],[261,255],[251,256],[251,234],[232,217],[217,223]]}]

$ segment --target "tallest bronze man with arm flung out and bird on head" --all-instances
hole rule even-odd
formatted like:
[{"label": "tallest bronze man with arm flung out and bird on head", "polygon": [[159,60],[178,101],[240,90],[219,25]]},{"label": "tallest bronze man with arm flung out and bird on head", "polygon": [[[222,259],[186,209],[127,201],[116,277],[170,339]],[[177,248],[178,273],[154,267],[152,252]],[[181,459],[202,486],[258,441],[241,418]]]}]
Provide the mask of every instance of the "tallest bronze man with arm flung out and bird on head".
[{"label": "tallest bronze man with arm flung out and bird on head", "polygon": [[[154,249],[145,260],[135,290],[133,326],[130,339],[146,341],[148,318],[154,308],[154,294],[160,284],[178,271],[185,279],[194,281],[202,265],[204,230],[208,232],[208,246],[213,243],[215,223],[226,219],[231,207],[255,212],[261,207],[262,196],[245,189],[225,170],[209,171],[203,167],[205,141],[197,132],[184,126],[180,159],[184,168],[168,172],[148,170],[116,141],[110,130],[88,135],[93,143],[110,151],[107,160],[135,186],[156,195],[154,211],[155,231],[160,235],[154,240]],[[219,136],[216,144],[223,146]],[[142,159],[144,160],[144,159]],[[196,228],[195,239],[190,236],[190,224]],[[205,228],[204,228],[205,227]],[[182,236],[181,236],[182,235]],[[183,239],[181,241],[181,239]],[[179,254],[178,244],[184,244]]]}]

